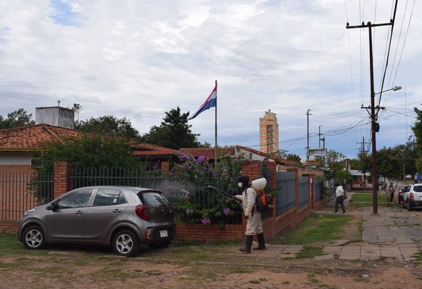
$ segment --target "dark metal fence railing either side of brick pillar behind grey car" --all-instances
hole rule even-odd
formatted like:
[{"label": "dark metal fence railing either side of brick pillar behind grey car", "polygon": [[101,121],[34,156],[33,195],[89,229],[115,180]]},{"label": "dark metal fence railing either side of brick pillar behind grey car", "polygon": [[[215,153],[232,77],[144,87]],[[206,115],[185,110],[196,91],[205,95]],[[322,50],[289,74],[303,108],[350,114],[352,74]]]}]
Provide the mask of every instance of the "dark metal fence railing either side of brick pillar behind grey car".
[{"label": "dark metal fence railing either side of brick pillar behind grey car", "polygon": [[[217,186],[213,177],[188,182],[183,177],[138,168],[74,168],[71,189],[82,186],[140,186],[158,189],[175,209],[179,222],[201,223],[203,219],[221,226],[242,224],[242,207],[205,186]],[[20,220],[24,211],[53,198],[53,173],[0,173],[0,220]]]}]

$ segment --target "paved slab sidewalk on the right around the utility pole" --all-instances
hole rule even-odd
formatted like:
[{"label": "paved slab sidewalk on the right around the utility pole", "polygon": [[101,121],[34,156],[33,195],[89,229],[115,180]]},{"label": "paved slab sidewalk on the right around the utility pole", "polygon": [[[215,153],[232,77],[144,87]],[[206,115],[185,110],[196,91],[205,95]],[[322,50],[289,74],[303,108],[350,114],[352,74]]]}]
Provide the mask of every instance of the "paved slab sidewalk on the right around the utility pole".
[{"label": "paved slab sidewalk on the right around the utility pole", "polygon": [[[350,197],[348,198],[350,200]],[[347,207],[346,207],[347,209]],[[341,209],[340,209],[341,211]],[[314,213],[334,213],[315,211]],[[271,245],[264,251],[253,251],[248,256],[267,258],[295,258],[303,245]],[[362,242],[349,243],[336,240],[323,248],[325,253],[315,259],[373,260],[381,257],[398,260],[412,259],[422,249],[422,211],[407,211],[397,208],[378,208],[373,215],[372,208],[363,209]]]}]

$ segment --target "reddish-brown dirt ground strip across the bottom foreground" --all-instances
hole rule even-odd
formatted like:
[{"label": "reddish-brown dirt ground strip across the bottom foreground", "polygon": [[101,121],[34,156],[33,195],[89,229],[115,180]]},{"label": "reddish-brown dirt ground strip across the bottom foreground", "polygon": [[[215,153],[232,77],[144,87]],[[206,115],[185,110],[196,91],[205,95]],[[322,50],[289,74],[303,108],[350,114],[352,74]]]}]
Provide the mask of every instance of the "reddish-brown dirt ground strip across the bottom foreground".
[{"label": "reddish-brown dirt ground strip across the bottom foreground", "polygon": [[0,288],[422,288],[421,266],[394,260],[371,264],[289,260],[272,265],[262,260],[248,264],[252,272],[240,267],[239,272],[226,272],[225,263],[112,259],[67,269],[49,259],[36,258],[29,268],[24,265],[5,270],[4,263],[15,258],[19,256],[1,261]]}]

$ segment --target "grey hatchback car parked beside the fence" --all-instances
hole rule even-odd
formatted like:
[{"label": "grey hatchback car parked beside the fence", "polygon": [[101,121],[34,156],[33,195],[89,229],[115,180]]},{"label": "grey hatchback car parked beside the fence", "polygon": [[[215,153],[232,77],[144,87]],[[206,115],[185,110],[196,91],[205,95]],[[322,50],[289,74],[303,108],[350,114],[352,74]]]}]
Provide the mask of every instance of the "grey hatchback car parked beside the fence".
[{"label": "grey hatchback car parked beside the fence", "polygon": [[135,256],[140,244],[167,247],[176,236],[174,211],[158,190],[86,186],[24,213],[17,238],[28,249],[49,243],[111,245]]}]

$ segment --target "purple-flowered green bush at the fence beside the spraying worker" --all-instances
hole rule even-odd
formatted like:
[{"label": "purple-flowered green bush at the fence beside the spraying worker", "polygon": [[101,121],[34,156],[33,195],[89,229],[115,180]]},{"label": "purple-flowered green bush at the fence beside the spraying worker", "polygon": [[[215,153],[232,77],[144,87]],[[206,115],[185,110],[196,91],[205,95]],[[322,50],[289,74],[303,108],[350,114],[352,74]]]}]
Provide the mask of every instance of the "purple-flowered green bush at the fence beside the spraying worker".
[{"label": "purple-flowered green bush at the fence beside the spraying worker", "polygon": [[183,153],[177,154],[178,163],[171,173],[180,178],[180,190],[174,207],[178,222],[201,223],[205,226],[242,223],[242,207],[239,202],[224,197],[207,186],[215,186],[228,195],[239,193],[237,176],[242,161],[223,156],[214,168],[203,156],[195,159]]}]

